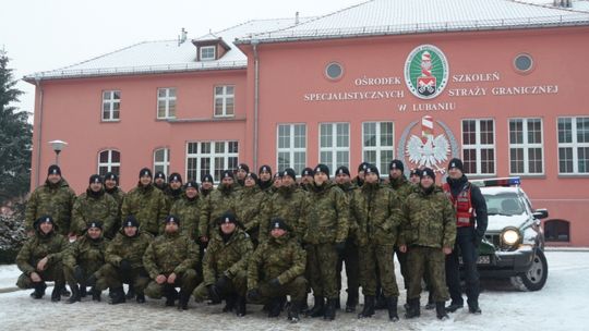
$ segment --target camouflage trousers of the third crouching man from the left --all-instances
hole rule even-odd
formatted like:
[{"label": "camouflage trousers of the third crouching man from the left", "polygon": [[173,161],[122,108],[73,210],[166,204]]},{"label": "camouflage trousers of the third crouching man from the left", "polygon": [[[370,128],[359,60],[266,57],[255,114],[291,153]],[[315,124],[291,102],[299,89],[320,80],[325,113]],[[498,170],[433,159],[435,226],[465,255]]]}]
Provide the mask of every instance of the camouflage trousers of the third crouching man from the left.
[{"label": "camouflage trousers of the third crouching man from the left", "polygon": [[100,277],[95,287],[98,291],[105,291],[107,287],[119,289],[122,287],[123,283],[127,283],[129,286],[133,286],[135,293],[143,294],[147,283],[149,283],[149,275],[143,268],[135,268],[124,273],[111,263],[106,263],[98,272]]}]

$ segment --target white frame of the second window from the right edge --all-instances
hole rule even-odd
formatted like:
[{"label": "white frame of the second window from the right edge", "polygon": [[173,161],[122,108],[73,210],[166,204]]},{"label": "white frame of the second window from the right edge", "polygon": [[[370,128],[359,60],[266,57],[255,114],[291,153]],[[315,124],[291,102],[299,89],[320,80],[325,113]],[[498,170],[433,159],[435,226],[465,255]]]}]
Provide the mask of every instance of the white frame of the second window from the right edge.
[{"label": "white frame of the second window from the right edge", "polygon": [[[521,135],[522,143],[512,142],[512,121],[521,121]],[[540,143],[529,143],[528,139],[528,122],[540,121]],[[544,123],[542,118],[513,118],[507,120],[507,131],[509,140],[509,174],[513,175],[542,175],[544,174]],[[531,148],[540,148],[542,151],[541,171],[530,172],[530,157],[529,152]],[[524,149],[524,172],[514,172],[512,169],[512,149]]]}]

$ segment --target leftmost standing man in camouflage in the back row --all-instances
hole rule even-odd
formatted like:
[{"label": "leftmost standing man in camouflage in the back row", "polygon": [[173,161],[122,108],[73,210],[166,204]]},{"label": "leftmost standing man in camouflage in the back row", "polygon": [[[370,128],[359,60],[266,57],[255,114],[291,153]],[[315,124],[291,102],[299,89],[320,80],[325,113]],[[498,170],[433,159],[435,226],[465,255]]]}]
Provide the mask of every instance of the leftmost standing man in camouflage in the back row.
[{"label": "leftmost standing man in camouflage in the back row", "polygon": [[33,222],[41,216],[51,216],[56,231],[65,236],[74,235],[71,225],[75,193],[61,176],[61,169],[52,164],[48,169],[45,184],[37,187],[26,203],[25,230],[34,235]]}]

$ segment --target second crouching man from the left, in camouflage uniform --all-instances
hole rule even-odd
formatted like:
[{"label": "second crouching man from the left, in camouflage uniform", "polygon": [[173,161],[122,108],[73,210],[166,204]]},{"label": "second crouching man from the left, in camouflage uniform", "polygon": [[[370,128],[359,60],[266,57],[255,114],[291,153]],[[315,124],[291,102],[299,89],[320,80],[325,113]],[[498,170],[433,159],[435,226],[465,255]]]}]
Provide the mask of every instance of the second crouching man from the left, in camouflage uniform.
[{"label": "second crouching man from the left, in camouflage uniform", "polygon": [[[92,286],[92,299],[100,301],[101,291],[96,290],[100,278],[99,269],[105,265],[105,252],[108,241],[103,236],[103,222],[94,221],[87,226],[85,235],[79,237],[63,253],[63,274],[72,296],[68,304],[80,302],[86,296],[86,285]],[[106,281],[98,287],[106,287]],[[80,284],[80,287],[79,287]]]}]

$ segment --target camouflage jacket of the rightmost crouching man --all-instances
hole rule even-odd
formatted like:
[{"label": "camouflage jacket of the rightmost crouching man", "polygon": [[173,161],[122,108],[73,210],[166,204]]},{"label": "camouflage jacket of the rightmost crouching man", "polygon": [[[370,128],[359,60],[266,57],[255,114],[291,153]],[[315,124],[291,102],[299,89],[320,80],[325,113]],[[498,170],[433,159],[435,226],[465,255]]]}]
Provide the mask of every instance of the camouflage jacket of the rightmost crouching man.
[{"label": "camouflage jacket of the rightmost crouching man", "polygon": [[304,274],[306,253],[296,238],[287,233],[279,238],[269,237],[260,244],[248,263],[248,289],[278,278],[280,284]]}]

